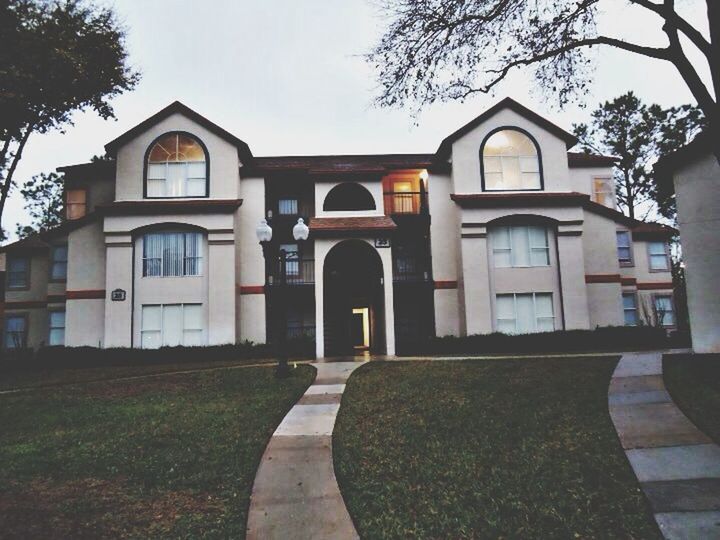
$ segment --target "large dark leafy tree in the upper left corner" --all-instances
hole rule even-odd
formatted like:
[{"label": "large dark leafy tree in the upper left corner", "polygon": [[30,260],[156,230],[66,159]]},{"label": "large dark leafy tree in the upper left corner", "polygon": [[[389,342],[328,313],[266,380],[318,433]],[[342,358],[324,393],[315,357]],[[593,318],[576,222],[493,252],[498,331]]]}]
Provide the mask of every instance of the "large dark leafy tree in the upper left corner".
[{"label": "large dark leafy tree in the upper left corner", "polygon": [[135,87],[125,30],[110,8],[81,0],[0,0],[0,220],[33,133],[63,129]]}]

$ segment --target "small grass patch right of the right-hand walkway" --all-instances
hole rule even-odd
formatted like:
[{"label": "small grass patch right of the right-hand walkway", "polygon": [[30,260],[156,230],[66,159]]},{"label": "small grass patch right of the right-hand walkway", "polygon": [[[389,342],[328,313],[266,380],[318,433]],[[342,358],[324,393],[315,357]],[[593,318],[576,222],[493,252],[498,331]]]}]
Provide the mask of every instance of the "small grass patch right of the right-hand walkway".
[{"label": "small grass patch right of the right-hand walkway", "polygon": [[720,354],[665,355],[663,376],[682,412],[720,444]]}]

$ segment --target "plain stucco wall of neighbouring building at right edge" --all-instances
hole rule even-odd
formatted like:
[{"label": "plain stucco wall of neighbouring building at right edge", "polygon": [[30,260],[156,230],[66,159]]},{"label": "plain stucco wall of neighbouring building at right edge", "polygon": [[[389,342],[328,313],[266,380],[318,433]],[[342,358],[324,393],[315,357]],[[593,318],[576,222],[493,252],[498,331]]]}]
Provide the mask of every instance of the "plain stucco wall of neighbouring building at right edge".
[{"label": "plain stucco wall of neighbouring building at right edge", "polygon": [[674,181],[693,349],[720,352],[720,166],[707,154]]}]

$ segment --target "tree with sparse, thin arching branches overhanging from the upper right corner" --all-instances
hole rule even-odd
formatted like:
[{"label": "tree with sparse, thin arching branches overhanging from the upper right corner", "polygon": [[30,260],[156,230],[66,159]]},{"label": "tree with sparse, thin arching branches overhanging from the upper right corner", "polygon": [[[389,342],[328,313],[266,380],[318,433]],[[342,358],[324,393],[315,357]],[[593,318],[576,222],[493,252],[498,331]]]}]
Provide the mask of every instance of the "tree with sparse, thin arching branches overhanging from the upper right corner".
[{"label": "tree with sparse, thin arching branches overhanging from the upper right corner", "polygon": [[[708,119],[720,161],[720,1],[704,0],[709,36],[678,13],[675,0],[627,3],[657,23],[664,46],[635,43],[613,36],[611,27],[600,28],[598,13],[611,0],[382,0],[390,23],[369,55],[378,71],[377,101],[422,107],[464,99],[490,92],[514,68],[527,68],[543,91],[564,104],[587,90],[589,52],[614,47],[674,66]],[[694,65],[683,47],[699,51],[702,61]],[[700,75],[706,69],[709,81]]]}]

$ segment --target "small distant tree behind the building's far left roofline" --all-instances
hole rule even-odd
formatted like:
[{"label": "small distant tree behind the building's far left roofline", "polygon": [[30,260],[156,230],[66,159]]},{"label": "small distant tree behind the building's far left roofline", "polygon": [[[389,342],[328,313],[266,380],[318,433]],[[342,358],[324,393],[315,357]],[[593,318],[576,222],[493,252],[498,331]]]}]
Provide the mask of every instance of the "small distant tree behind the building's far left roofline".
[{"label": "small distant tree behind the building's far left roofline", "polygon": [[65,214],[63,202],[64,179],[57,173],[38,174],[27,182],[20,193],[25,199],[25,210],[32,219],[30,225],[17,225],[15,234],[20,238],[47,231],[62,223]]}]

